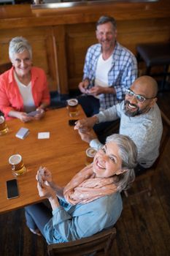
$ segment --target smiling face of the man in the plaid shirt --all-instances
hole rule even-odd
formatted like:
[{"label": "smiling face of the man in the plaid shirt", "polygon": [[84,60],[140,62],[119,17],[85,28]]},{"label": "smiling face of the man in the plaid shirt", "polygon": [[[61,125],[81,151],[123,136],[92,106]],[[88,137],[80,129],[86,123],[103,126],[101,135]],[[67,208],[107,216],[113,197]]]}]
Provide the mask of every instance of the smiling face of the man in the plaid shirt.
[{"label": "smiling face of the man in the plaid shirt", "polygon": [[117,30],[114,29],[111,22],[107,22],[97,26],[96,38],[98,39],[98,42],[101,44],[102,50],[114,50],[116,37]]}]

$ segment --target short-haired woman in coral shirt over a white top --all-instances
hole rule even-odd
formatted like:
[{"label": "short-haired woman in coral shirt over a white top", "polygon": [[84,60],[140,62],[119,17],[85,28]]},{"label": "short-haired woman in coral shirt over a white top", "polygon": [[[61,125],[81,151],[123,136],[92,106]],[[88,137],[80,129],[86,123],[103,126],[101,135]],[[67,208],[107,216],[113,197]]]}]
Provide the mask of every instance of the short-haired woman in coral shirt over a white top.
[{"label": "short-haired woman in coral shirt over a white top", "polygon": [[[14,37],[9,42],[12,68],[0,75],[0,110],[5,118],[23,122],[40,119],[50,104],[45,72],[32,67],[32,50],[27,39]],[[28,113],[37,110],[35,116]]]}]

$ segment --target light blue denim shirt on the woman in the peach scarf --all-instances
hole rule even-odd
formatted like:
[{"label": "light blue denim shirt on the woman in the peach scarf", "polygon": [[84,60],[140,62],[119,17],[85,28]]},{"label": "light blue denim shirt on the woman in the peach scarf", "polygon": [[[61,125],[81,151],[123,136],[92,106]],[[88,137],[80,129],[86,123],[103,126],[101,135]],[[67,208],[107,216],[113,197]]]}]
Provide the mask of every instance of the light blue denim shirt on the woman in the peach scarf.
[{"label": "light blue denim shirt on the woman in the peach scarf", "polygon": [[44,227],[48,244],[74,241],[92,236],[117,222],[123,209],[119,192],[75,206],[59,201],[61,206],[53,211],[53,218]]}]

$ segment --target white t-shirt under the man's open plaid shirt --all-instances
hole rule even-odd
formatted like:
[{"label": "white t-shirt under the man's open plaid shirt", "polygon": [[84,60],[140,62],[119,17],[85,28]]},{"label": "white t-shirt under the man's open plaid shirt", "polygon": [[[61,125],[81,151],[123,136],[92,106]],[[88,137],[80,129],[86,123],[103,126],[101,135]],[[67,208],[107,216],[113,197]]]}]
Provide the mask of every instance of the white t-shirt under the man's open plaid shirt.
[{"label": "white t-shirt under the man's open plaid shirt", "polygon": [[96,79],[95,86],[108,86],[108,73],[112,67],[112,55],[109,56],[109,59],[104,60],[102,57],[102,53],[98,58],[97,67],[96,67]]}]

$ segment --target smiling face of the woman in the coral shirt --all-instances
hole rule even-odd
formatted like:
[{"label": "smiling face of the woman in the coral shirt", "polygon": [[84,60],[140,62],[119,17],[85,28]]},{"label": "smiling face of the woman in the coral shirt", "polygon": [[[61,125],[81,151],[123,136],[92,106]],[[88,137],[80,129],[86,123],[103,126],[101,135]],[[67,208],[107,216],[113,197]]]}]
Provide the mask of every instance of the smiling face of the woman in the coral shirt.
[{"label": "smiling face of the woman in the coral shirt", "polygon": [[23,78],[30,74],[32,61],[28,50],[23,50],[22,53],[13,53],[11,62],[18,77]]}]

